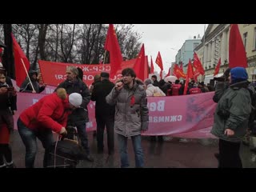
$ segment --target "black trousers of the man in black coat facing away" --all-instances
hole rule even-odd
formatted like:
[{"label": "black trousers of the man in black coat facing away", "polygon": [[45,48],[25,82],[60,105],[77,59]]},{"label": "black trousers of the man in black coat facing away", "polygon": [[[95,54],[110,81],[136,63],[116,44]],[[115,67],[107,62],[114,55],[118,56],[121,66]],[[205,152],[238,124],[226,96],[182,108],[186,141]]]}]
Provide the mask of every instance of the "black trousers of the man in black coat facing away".
[{"label": "black trousers of the man in black coat facing away", "polygon": [[106,134],[107,134],[107,147],[109,153],[114,152],[114,117],[106,116],[106,115],[97,115],[97,142],[98,142],[98,150],[103,150],[104,148],[104,130],[106,126]]}]

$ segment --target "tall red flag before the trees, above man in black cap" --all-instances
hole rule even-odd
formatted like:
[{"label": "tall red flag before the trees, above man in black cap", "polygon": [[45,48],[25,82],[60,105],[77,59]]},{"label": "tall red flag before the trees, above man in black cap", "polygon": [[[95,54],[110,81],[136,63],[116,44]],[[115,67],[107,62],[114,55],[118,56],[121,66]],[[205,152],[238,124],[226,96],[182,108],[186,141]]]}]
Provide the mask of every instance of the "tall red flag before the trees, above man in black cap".
[{"label": "tall red flag before the trees, above man in black cap", "polygon": [[110,24],[109,30],[107,31],[104,49],[110,51],[110,78],[114,78],[117,71],[121,70],[122,54],[113,24]]}]

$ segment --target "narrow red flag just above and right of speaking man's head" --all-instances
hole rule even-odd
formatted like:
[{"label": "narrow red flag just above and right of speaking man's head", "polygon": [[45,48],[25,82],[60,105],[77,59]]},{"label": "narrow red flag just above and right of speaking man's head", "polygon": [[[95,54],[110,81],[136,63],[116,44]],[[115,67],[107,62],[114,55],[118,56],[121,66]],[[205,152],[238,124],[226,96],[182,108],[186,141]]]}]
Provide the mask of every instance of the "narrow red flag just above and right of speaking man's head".
[{"label": "narrow red flag just above and right of speaking man's head", "polygon": [[144,43],[142,44],[142,49],[140,50],[138,54],[138,58],[134,64],[134,72],[137,76],[137,78],[144,81],[144,72],[145,72],[145,49],[144,49]]}]

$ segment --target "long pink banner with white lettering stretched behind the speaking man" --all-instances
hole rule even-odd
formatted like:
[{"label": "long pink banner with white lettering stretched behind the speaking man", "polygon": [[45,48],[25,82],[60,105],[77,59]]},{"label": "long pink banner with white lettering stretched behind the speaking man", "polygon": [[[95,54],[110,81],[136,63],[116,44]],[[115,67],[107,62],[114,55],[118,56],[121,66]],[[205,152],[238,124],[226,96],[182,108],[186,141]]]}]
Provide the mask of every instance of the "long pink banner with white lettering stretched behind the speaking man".
[{"label": "long pink banner with white lettering stretched behind the speaking man", "polygon": [[[55,88],[54,88],[55,89]],[[53,89],[53,90],[54,90]],[[51,90],[48,90],[49,93]],[[47,90],[46,90],[47,92]],[[18,93],[18,113],[14,115],[15,129],[22,110],[46,94]],[[148,97],[149,130],[143,135],[172,135],[179,138],[214,138],[210,134],[214,123],[214,92],[178,97]],[[89,119],[86,130],[96,130],[95,104],[88,104]]]}]

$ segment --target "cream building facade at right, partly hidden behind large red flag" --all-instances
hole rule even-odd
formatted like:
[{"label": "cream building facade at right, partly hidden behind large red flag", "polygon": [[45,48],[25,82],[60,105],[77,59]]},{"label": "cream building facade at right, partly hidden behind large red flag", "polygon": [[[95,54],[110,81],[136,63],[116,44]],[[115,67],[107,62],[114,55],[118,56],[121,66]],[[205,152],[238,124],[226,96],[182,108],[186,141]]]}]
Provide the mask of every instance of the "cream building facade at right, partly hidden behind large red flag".
[{"label": "cream building facade at right, partly hidden behind large red flag", "polygon": [[[256,24],[238,24],[242,40],[246,48],[249,81],[256,77]],[[228,68],[229,61],[229,38],[230,24],[210,24],[208,25],[201,44],[195,48],[198,58],[205,69],[205,76],[201,80],[207,84],[214,78],[214,69],[221,58],[222,64],[218,76]]]}]

